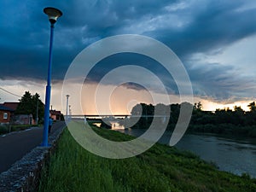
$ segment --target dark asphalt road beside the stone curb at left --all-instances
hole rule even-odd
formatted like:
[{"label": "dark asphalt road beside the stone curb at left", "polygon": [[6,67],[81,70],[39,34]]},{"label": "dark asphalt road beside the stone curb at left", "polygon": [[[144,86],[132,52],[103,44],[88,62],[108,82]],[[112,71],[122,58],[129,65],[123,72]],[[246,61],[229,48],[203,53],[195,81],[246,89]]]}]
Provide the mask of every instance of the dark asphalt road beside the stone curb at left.
[{"label": "dark asphalt road beside the stone curb at left", "polygon": [[[64,125],[65,122],[55,123],[50,134]],[[0,136],[0,173],[9,170],[17,160],[38,147],[43,142],[43,131],[43,127],[33,127]]]}]

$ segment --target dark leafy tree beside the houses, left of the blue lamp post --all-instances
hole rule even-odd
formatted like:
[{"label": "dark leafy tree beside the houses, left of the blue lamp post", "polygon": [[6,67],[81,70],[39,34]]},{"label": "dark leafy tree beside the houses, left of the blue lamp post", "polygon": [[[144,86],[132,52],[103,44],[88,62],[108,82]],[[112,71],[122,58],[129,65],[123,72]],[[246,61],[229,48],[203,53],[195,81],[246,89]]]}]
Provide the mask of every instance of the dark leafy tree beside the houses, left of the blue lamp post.
[{"label": "dark leafy tree beside the houses, left of the blue lamp post", "polygon": [[20,99],[15,114],[32,114],[33,119],[36,119],[38,108],[38,122],[42,122],[44,117],[44,103],[39,97],[38,93],[32,96],[29,91],[26,91]]}]

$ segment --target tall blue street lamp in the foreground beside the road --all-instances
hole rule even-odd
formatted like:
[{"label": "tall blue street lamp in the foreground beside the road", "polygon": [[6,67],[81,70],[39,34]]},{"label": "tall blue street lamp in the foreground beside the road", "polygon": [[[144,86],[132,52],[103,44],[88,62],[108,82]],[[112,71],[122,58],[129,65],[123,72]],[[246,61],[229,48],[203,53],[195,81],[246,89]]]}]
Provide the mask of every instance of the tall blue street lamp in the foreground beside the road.
[{"label": "tall blue street lamp in the foreground beside the road", "polygon": [[49,102],[50,102],[50,81],[51,81],[51,62],[52,62],[52,45],[53,45],[53,36],[55,22],[59,17],[61,17],[62,12],[59,9],[55,8],[44,8],[44,14],[48,15],[50,22],[50,38],[49,38],[49,64],[48,64],[48,79],[46,85],[46,94],[45,94],[45,106],[44,106],[44,138],[43,138],[43,147],[48,147],[48,128],[49,128]]}]

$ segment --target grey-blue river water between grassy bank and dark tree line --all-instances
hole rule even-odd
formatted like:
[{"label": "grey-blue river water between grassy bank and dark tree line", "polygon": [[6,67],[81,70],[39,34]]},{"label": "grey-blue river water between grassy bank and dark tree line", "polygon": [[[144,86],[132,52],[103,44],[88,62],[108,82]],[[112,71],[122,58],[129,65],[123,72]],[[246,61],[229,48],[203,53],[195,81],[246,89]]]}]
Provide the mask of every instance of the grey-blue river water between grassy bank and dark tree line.
[{"label": "grey-blue river water between grassy bank and dark tree line", "polygon": [[[144,132],[138,129],[117,129],[117,131],[134,137],[139,137]],[[172,132],[166,131],[159,143],[168,144],[171,136]],[[199,155],[202,160],[214,162],[221,171],[236,175],[247,173],[256,178],[256,144],[253,140],[187,134],[176,147],[189,150]]]}]

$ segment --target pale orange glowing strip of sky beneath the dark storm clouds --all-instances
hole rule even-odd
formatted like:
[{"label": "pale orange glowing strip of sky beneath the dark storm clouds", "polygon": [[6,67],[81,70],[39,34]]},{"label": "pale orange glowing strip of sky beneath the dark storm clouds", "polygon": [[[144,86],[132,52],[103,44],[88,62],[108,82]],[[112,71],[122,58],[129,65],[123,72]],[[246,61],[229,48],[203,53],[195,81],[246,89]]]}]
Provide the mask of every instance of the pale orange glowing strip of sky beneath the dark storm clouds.
[{"label": "pale orange glowing strip of sky beneath the dark storm clouds", "polygon": [[[41,96],[41,100],[44,102],[44,94],[45,94],[45,84],[39,84],[35,82],[30,82],[30,85],[27,85],[27,81],[17,81],[13,84],[13,81],[8,80],[0,80],[1,87],[9,90],[15,94],[22,96],[25,91],[29,90],[32,94],[36,92],[39,93]],[[80,94],[73,92],[73,84],[70,86],[69,90],[69,104],[71,105],[72,114],[81,114],[80,108],[82,108],[83,114],[97,114],[99,111],[101,113],[108,112],[110,109],[113,114],[130,114],[131,108],[133,108],[137,103],[154,103],[152,97],[148,93],[147,90],[132,90],[127,89],[125,86],[120,85],[117,87],[110,98],[106,98],[102,96],[102,98],[97,101],[98,107],[103,105],[103,102],[109,102],[109,108],[98,108],[96,109],[95,103],[95,93],[96,93],[96,84],[86,84],[82,89],[81,101],[73,101],[74,94]],[[61,110],[62,113],[66,113],[66,98],[64,98],[64,103],[61,104],[61,86],[62,84],[53,84],[52,85],[52,94],[51,94],[51,105],[56,110]],[[111,85],[106,85],[104,89],[112,89]],[[4,93],[3,90],[0,90],[0,102],[18,102],[18,97],[10,96],[8,93]],[[158,100],[161,100],[161,94],[157,94]],[[65,96],[64,96],[65,97]],[[212,102],[207,99],[202,99],[200,97],[194,98],[195,102],[201,102],[203,105],[203,110],[206,111],[215,111],[217,108],[230,108],[234,109],[235,106],[241,106],[244,110],[249,110],[247,105],[252,100],[247,101],[239,101],[239,102],[232,102],[229,104],[224,104],[221,102]],[[102,103],[101,103],[102,102]],[[171,103],[180,103],[179,96],[170,95],[170,102]],[[170,104],[170,103],[164,103]]]}]

